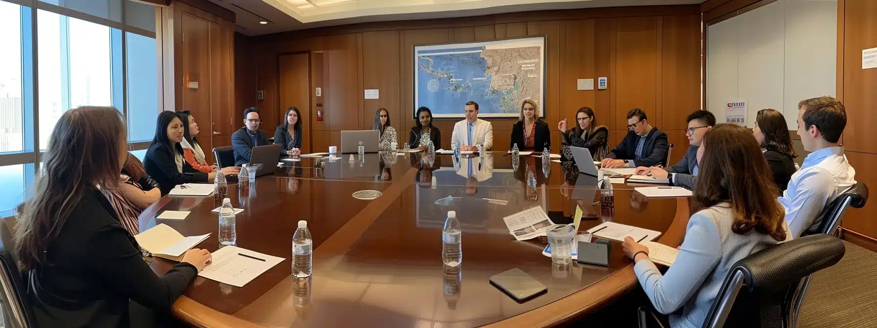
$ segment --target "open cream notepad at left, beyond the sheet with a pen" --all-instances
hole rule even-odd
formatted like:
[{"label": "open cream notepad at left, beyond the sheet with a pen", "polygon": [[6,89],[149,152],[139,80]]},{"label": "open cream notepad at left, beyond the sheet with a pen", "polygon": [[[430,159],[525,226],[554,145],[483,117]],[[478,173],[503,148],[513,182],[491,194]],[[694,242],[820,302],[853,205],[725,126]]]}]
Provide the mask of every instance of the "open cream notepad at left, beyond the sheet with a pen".
[{"label": "open cream notepad at left, beyond the sheet with a pen", "polygon": [[141,248],[146,249],[153,257],[160,257],[171,261],[182,261],[182,255],[187,250],[194,248],[201,241],[210,237],[210,234],[183,237],[173,227],[164,223],[152,227],[134,236]]}]

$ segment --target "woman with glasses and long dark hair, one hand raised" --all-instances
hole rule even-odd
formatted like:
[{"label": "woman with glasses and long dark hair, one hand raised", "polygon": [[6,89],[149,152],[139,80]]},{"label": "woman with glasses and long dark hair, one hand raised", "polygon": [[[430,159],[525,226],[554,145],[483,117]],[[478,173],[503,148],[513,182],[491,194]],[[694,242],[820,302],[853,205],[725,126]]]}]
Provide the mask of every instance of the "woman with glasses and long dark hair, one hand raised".
[{"label": "woman with glasses and long dark hair, one hand raised", "polygon": [[566,160],[573,160],[573,153],[569,146],[587,148],[595,161],[601,161],[609,153],[609,128],[597,125],[594,109],[589,107],[579,108],[575,112],[575,127],[567,131],[567,120],[557,123],[562,136],[563,156]]}]

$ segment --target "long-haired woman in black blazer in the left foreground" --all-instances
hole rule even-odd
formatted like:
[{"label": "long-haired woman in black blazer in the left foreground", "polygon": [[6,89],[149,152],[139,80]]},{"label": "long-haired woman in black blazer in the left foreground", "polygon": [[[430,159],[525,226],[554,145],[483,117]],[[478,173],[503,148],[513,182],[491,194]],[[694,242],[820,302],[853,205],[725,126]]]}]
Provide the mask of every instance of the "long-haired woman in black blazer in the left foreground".
[{"label": "long-haired woman in black blazer in the left foreground", "polygon": [[206,250],[189,249],[157,276],[144,261],[100,191],[121,184],[126,136],[111,107],[75,108],[55,124],[13,232],[39,327],[165,326],[171,305],[210,262]]}]

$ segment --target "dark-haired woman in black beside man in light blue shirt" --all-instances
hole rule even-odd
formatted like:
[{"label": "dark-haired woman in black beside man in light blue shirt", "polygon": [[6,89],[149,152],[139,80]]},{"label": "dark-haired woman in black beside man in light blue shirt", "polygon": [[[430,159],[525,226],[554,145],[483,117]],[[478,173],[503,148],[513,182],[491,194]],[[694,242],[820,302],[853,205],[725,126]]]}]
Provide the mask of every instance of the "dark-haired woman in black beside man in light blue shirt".
[{"label": "dark-haired woman in black beside man in light blue shirt", "polygon": [[798,171],[792,160],[798,156],[792,147],[792,138],[788,136],[786,118],[776,109],[761,109],[755,116],[752,135],[761,144],[761,152],[765,154],[767,165],[774,174],[774,184],[780,192],[786,191],[788,180]]}]

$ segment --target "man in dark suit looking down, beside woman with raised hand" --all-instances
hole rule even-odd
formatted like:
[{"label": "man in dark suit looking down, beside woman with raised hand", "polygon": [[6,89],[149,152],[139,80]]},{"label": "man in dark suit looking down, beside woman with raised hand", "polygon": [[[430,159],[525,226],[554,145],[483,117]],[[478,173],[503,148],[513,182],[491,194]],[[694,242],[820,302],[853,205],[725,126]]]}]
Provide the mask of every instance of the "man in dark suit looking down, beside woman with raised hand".
[{"label": "man in dark suit looking down, beside woman with raised hand", "polygon": [[653,128],[639,108],[627,112],[627,136],[602,160],[602,167],[638,167],[667,161],[667,134]]}]

